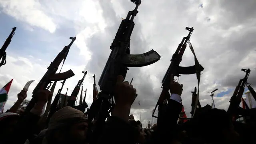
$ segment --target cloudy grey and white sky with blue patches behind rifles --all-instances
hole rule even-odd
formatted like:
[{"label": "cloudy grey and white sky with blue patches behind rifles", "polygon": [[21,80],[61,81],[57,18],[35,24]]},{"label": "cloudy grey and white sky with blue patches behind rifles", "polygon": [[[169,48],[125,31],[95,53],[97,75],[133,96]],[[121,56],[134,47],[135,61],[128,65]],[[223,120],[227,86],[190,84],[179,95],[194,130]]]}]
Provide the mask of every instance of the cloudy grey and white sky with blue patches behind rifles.
[{"label": "cloudy grey and white sky with blue patches behind rifles", "polygon": [[[71,94],[82,71],[87,70],[84,89],[87,88],[86,102],[90,105],[92,76],[96,74],[98,81],[121,18],[134,6],[130,0],[0,0],[0,42],[4,43],[12,27],[17,27],[6,50],[7,64],[0,68],[0,87],[14,78],[5,109],[14,104],[28,80],[35,80],[28,91],[27,99],[31,98],[47,66],[70,43],[70,36],[77,39],[62,72],[72,69],[76,75],[66,80],[62,93],[69,88]],[[142,0],[134,20],[131,54],[154,49],[161,59],[150,66],[130,68],[127,73],[126,80],[134,77],[138,93],[131,111],[134,117],[140,119],[140,108],[143,125],[151,121],[162,78],[172,54],[188,34],[187,26],[194,27],[190,40],[204,67],[200,82],[202,106],[212,103],[207,91],[218,88],[214,95],[216,108],[227,109],[234,87],[244,77],[241,68],[252,70],[248,82],[256,88],[255,6],[255,0]],[[189,48],[180,65],[194,65]],[[178,82],[184,85],[182,103],[190,116],[196,75],[182,75]],[[55,93],[60,85],[58,82]]]}]

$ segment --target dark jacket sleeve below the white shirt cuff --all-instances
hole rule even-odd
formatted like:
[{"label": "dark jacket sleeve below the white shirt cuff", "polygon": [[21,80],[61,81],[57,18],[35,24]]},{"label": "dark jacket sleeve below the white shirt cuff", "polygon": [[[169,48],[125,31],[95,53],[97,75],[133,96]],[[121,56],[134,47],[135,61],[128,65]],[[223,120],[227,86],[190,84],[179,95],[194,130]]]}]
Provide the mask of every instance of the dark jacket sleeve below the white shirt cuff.
[{"label": "dark jacket sleeve below the white shirt cuff", "polygon": [[[182,104],[175,100],[168,100],[166,106],[159,108],[161,117],[158,117],[156,132],[152,136],[152,143],[170,144],[177,135],[177,121],[182,110]],[[159,115],[158,115],[159,116]]]}]

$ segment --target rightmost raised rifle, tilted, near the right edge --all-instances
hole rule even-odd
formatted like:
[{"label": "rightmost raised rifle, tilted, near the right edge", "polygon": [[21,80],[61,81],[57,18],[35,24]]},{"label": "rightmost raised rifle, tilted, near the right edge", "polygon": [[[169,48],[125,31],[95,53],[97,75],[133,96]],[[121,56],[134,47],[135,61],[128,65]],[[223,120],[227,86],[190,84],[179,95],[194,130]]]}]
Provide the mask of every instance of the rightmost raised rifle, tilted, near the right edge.
[{"label": "rightmost raised rifle, tilted, near the right edge", "polygon": [[236,86],[234,93],[232,97],[230,98],[230,105],[228,107],[228,114],[230,115],[230,118],[232,119],[234,116],[236,116],[237,111],[239,109],[239,104],[242,101],[242,96],[244,93],[244,86],[247,84],[248,76],[251,72],[250,68],[241,69],[242,71],[246,72],[243,79],[240,79],[238,82],[238,85]]}]

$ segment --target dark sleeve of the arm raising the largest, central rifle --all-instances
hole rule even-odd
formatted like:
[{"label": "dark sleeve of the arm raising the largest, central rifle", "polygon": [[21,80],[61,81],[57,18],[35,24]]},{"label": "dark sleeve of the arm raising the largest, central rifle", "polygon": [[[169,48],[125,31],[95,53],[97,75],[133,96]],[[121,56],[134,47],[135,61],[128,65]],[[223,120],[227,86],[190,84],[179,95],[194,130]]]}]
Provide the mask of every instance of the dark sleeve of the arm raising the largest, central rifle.
[{"label": "dark sleeve of the arm raising the largest, central rifle", "polygon": [[138,130],[124,120],[110,116],[98,144],[134,144]]}]

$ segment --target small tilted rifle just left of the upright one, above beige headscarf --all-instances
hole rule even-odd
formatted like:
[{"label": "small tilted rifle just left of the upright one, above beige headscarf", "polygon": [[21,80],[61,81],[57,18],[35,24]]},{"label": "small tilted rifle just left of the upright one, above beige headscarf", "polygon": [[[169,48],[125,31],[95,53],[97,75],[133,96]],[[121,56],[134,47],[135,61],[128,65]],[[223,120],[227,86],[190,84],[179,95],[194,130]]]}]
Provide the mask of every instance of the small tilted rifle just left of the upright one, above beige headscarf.
[{"label": "small tilted rifle just left of the upright one, above beige headscarf", "polygon": [[74,104],[76,102],[76,96],[78,95],[80,87],[81,87],[82,83],[84,82],[84,78],[87,74],[87,71],[86,72],[82,71],[82,73],[84,74],[84,76],[81,80],[78,81],[76,87],[74,88],[73,92],[71,93],[70,98],[68,99],[67,106],[74,106]]}]

